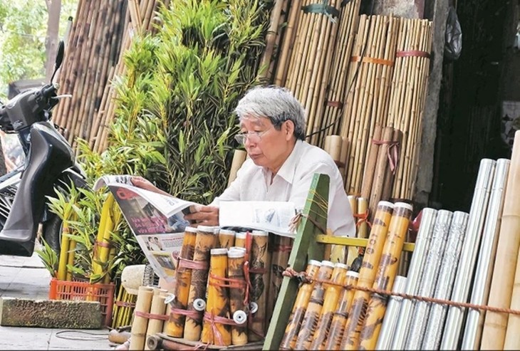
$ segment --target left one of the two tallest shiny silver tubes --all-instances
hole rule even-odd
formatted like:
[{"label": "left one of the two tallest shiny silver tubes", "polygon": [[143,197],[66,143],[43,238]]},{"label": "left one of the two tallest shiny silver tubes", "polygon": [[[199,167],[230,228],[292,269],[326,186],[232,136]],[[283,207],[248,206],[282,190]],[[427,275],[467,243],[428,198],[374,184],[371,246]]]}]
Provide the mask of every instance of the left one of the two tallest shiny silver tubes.
[{"label": "left one of the two tallest shiny silver tubes", "polygon": [[[494,159],[482,159],[477,176],[477,184],[473,194],[472,206],[469,210],[467,231],[462,243],[459,267],[453,285],[451,300],[454,302],[467,302],[469,286],[472,283],[472,276],[475,267],[475,259],[479,249],[484,219],[486,218],[487,206],[493,182],[496,161]],[[464,308],[450,306],[448,316],[444,325],[442,335],[441,350],[456,350],[459,341],[459,334],[464,318]]]}]

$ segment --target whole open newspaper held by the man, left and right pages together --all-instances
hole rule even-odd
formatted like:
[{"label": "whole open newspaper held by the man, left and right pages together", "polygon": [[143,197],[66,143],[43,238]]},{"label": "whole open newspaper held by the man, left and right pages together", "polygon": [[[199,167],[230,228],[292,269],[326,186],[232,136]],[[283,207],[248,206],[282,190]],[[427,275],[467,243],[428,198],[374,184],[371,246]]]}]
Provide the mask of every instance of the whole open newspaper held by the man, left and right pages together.
[{"label": "whole open newspaper held by the man, left and right pages together", "polygon": [[[184,214],[192,212],[195,202],[150,192],[135,187],[130,175],[105,175],[94,190],[107,186],[118,202],[142,251],[157,276],[175,281],[174,258],[182,248],[184,229],[190,225]],[[220,201],[219,224],[246,231],[258,229],[281,236],[294,237],[291,221],[296,209],[282,201]]]}]

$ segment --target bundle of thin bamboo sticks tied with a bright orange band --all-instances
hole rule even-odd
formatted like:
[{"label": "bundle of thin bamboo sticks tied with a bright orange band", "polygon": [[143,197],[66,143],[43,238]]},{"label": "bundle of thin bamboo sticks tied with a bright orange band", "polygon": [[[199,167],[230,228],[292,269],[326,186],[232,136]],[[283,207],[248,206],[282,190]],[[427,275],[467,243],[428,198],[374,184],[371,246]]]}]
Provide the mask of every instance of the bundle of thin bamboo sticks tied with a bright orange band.
[{"label": "bundle of thin bamboo sticks tied with a bright orange band", "polygon": [[[376,125],[386,125],[390,79],[400,19],[360,16],[348,80],[352,80],[343,107],[341,135],[350,142],[345,189],[360,194],[368,146]],[[359,66],[359,67],[358,67]]]}]

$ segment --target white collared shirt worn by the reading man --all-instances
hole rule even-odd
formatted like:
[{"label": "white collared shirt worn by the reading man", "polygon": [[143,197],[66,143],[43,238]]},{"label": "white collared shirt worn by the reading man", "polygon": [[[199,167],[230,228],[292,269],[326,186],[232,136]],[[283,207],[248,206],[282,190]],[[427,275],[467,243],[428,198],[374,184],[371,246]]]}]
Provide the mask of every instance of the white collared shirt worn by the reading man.
[{"label": "white collared shirt worn by the reading man", "polygon": [[327,152],[301,140],[296,141],[272,183],[269,169],[246,159],[236,179],[212,205],[218,206],[219,201],[291,201],[296,209],[303,209],[314,173],[331,178],[327,228],[336,236],[355,236],[354,218],[338,167]]}]

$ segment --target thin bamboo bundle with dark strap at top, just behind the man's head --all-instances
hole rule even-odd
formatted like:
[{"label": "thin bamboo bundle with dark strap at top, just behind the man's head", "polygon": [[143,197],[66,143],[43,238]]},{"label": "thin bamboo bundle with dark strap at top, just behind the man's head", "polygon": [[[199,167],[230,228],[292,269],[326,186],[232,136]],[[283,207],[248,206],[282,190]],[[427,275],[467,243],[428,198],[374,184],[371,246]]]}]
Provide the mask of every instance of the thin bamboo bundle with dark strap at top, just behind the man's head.
[{"label": "thin bamboo bundle with dark strap at top, just behind the man's head", "polygon": [[[291,90],[305,108],[307,135],[321,127],[332,60],[328,52],[336,42],[340,3],[296,0],[291,4],[275,83]],[[316,143],[317,138],[313,135],[310,141]]]}]

